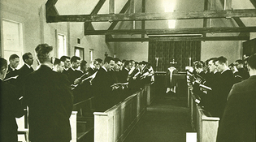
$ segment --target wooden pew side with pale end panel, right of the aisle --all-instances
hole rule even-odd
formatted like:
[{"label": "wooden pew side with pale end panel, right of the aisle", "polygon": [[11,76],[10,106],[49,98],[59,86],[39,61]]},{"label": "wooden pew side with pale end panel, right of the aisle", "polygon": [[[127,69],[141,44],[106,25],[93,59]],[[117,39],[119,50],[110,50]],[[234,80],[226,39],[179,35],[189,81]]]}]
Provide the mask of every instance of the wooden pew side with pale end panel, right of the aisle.
[{"label": "wooden pew side with pale end panel, right of the aisle", "polygon": [[189,114],[193,131],[197,131],[198,142],[215,142],[219,127],[219,118],[211,117],[210,113],[203,110],[195,102],[195,95],[192,93],[191,86],[188,88],[189,93]]}]

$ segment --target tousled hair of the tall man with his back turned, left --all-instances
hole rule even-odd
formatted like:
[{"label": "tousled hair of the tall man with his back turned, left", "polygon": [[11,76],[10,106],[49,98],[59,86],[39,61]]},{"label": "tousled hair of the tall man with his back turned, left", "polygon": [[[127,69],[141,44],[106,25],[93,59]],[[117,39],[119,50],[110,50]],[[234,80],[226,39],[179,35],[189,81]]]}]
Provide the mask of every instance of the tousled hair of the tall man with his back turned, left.
[{"label": "tousled hair of the tall man with his back turned, left", "polygon": [[37,45],[35,50],[40,63],[50,61],[49,53],[53,50],[53,46],[48,44],[40,44]]}]

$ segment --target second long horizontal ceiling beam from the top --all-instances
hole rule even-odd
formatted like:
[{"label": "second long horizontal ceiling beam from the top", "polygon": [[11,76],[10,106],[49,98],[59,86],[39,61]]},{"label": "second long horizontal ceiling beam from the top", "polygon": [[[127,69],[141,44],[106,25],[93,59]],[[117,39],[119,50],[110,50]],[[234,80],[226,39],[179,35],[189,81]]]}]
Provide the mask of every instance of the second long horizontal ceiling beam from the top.
[{"label": "second long horizontal ceiling beam from the top", "polygon": [[134,29],[134,30],[88,30],[85,35],[134,35],[134,34],[203,34],[220,32],[256,32],[256,27],[231,28],[175,28],[175,29]]}]

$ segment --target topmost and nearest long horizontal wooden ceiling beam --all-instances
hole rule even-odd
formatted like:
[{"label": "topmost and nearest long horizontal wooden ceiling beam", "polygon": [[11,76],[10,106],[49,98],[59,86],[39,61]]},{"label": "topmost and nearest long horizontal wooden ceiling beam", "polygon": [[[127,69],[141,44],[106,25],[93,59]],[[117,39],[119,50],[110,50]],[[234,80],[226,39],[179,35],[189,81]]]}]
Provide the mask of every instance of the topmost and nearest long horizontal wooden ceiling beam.
[{"label": "topmost and nearest long horizontal wooden ceiling beam", "polygon": [[165,20],[165,19],[215,19],[234,17],[256,17],[255,9],[227,10],[227,11],[192,11],[165,13],[132,13],[105,15],[56,15],[48,16],[48,21],[54,22],[113,22],[132,20]]}]

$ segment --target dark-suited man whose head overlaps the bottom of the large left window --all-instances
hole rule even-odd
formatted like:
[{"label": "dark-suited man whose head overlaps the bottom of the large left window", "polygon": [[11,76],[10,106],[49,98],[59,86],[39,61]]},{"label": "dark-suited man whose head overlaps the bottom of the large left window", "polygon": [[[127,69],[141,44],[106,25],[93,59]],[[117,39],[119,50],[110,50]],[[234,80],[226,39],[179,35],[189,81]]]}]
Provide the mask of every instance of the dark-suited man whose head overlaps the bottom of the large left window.
[{"label": "dark-suited man whose head overlaps the bottom of the large left window", "polygon": [[[17,70],[17,67],[20,64],[20,57],[17,54],[11,54],[9,62],[10,64],[8,65],[7,75],[4,80],[19,75],[19,70]],[[8,83],[16,85],[16,80],[8,80]]]}]

